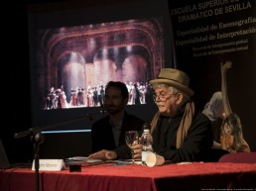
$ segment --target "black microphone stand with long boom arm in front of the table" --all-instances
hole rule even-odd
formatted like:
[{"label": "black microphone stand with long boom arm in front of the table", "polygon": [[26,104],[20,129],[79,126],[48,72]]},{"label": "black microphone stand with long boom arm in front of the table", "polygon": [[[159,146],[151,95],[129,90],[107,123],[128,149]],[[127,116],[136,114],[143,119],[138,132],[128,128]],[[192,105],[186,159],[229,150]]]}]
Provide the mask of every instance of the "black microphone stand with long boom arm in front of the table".
[{"label": "black microphone stand with long boom arm in front of the table", "polygon": [[40,168],[40,158],[39,158],[39,148],[40,148],[40,143],[43,143],[45,138],[44,135],[41,133],[42,131],[45,130],[49,130],[52,128],[57,128],[66,124],[71,124],[74,122],[78,122],[80,120],[83,119],[89,119],[89,120],[93,120],[93,116],[96,114],[104,114],[105,110],[100,110],[99,112],[94,112],[94,113],[90,113],[87,114],[85,116],[81,116],[69,121],[65,121],[59,124],[55,124],[55,125],[50,125],[50,126],[45,126],[45,127],[37,127],[37,128],[31,128],[27,131],[22,131],[19,133],[14,134],[14,138],[16,139],[20,139],[23,137],[28,137],[30,136],[31,138],[31,142],[33,143],[33,147],[34,147],[34,161],[35,161],[35,191],[40,191],[40,178],[39,178],[39,168]]}]

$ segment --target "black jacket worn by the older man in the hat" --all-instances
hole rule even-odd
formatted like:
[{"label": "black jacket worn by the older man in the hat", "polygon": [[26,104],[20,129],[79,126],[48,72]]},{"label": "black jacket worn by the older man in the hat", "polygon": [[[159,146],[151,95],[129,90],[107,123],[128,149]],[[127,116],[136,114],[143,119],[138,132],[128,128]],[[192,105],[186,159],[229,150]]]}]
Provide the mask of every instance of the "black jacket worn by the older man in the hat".
[{"label": "black jacket worn by the older man in the hat", "polygon": [[201,113],[195,114],[182,147],[176,147],[177,131],[183,114],[184,110],[181,110],[173,118],[160,117],[152,134],[154,151],[174,163],[207,160],[213,136],[210,121]]}]

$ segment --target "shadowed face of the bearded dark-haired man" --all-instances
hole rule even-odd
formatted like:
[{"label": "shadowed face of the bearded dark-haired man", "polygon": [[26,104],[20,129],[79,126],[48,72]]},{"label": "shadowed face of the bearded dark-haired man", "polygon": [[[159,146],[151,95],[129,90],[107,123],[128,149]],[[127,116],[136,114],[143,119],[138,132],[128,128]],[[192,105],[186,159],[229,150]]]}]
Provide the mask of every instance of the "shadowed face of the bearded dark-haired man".
[{"label": "shadowed face of the bearded dark-haired man", "polygon": [[127,99],[123,98],[121,90],[115,87],[109,87],[106,90],[104,106],[109,114],[123,111],[126,105]]}]

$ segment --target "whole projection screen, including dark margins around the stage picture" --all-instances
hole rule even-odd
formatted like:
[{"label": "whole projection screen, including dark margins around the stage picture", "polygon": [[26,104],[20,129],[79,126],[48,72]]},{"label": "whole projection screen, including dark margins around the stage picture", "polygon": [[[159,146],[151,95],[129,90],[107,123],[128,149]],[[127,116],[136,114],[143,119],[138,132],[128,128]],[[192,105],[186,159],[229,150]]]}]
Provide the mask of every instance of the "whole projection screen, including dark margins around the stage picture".
[{"label": "whole projection screen, including dark margins around the stage picture", "polygon": [[167,7],[165,1],[149,1],[147,9],[142,1],[28,7],[32,126],[89,130],[105,113],[108,81],[127,84],[127,110],[149,120],[156,106],[148,82],[173,64]]}]

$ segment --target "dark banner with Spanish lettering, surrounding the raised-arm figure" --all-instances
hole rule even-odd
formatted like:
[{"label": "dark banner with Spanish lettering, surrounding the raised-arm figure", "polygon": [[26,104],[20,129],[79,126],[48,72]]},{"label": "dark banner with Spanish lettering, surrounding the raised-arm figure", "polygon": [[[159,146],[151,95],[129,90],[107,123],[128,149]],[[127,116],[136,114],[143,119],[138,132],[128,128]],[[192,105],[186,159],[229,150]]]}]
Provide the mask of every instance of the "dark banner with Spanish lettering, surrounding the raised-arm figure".
[{"label": "dark banner with Spanish lettering, surrounding the raised-arm figure", "polygon": [[256,2],[253,0],[169,1],[176,67],[191,76],[199,108],[221,91],[220,62],[227,71],[228,98],[243,133],[256,150]]}]

